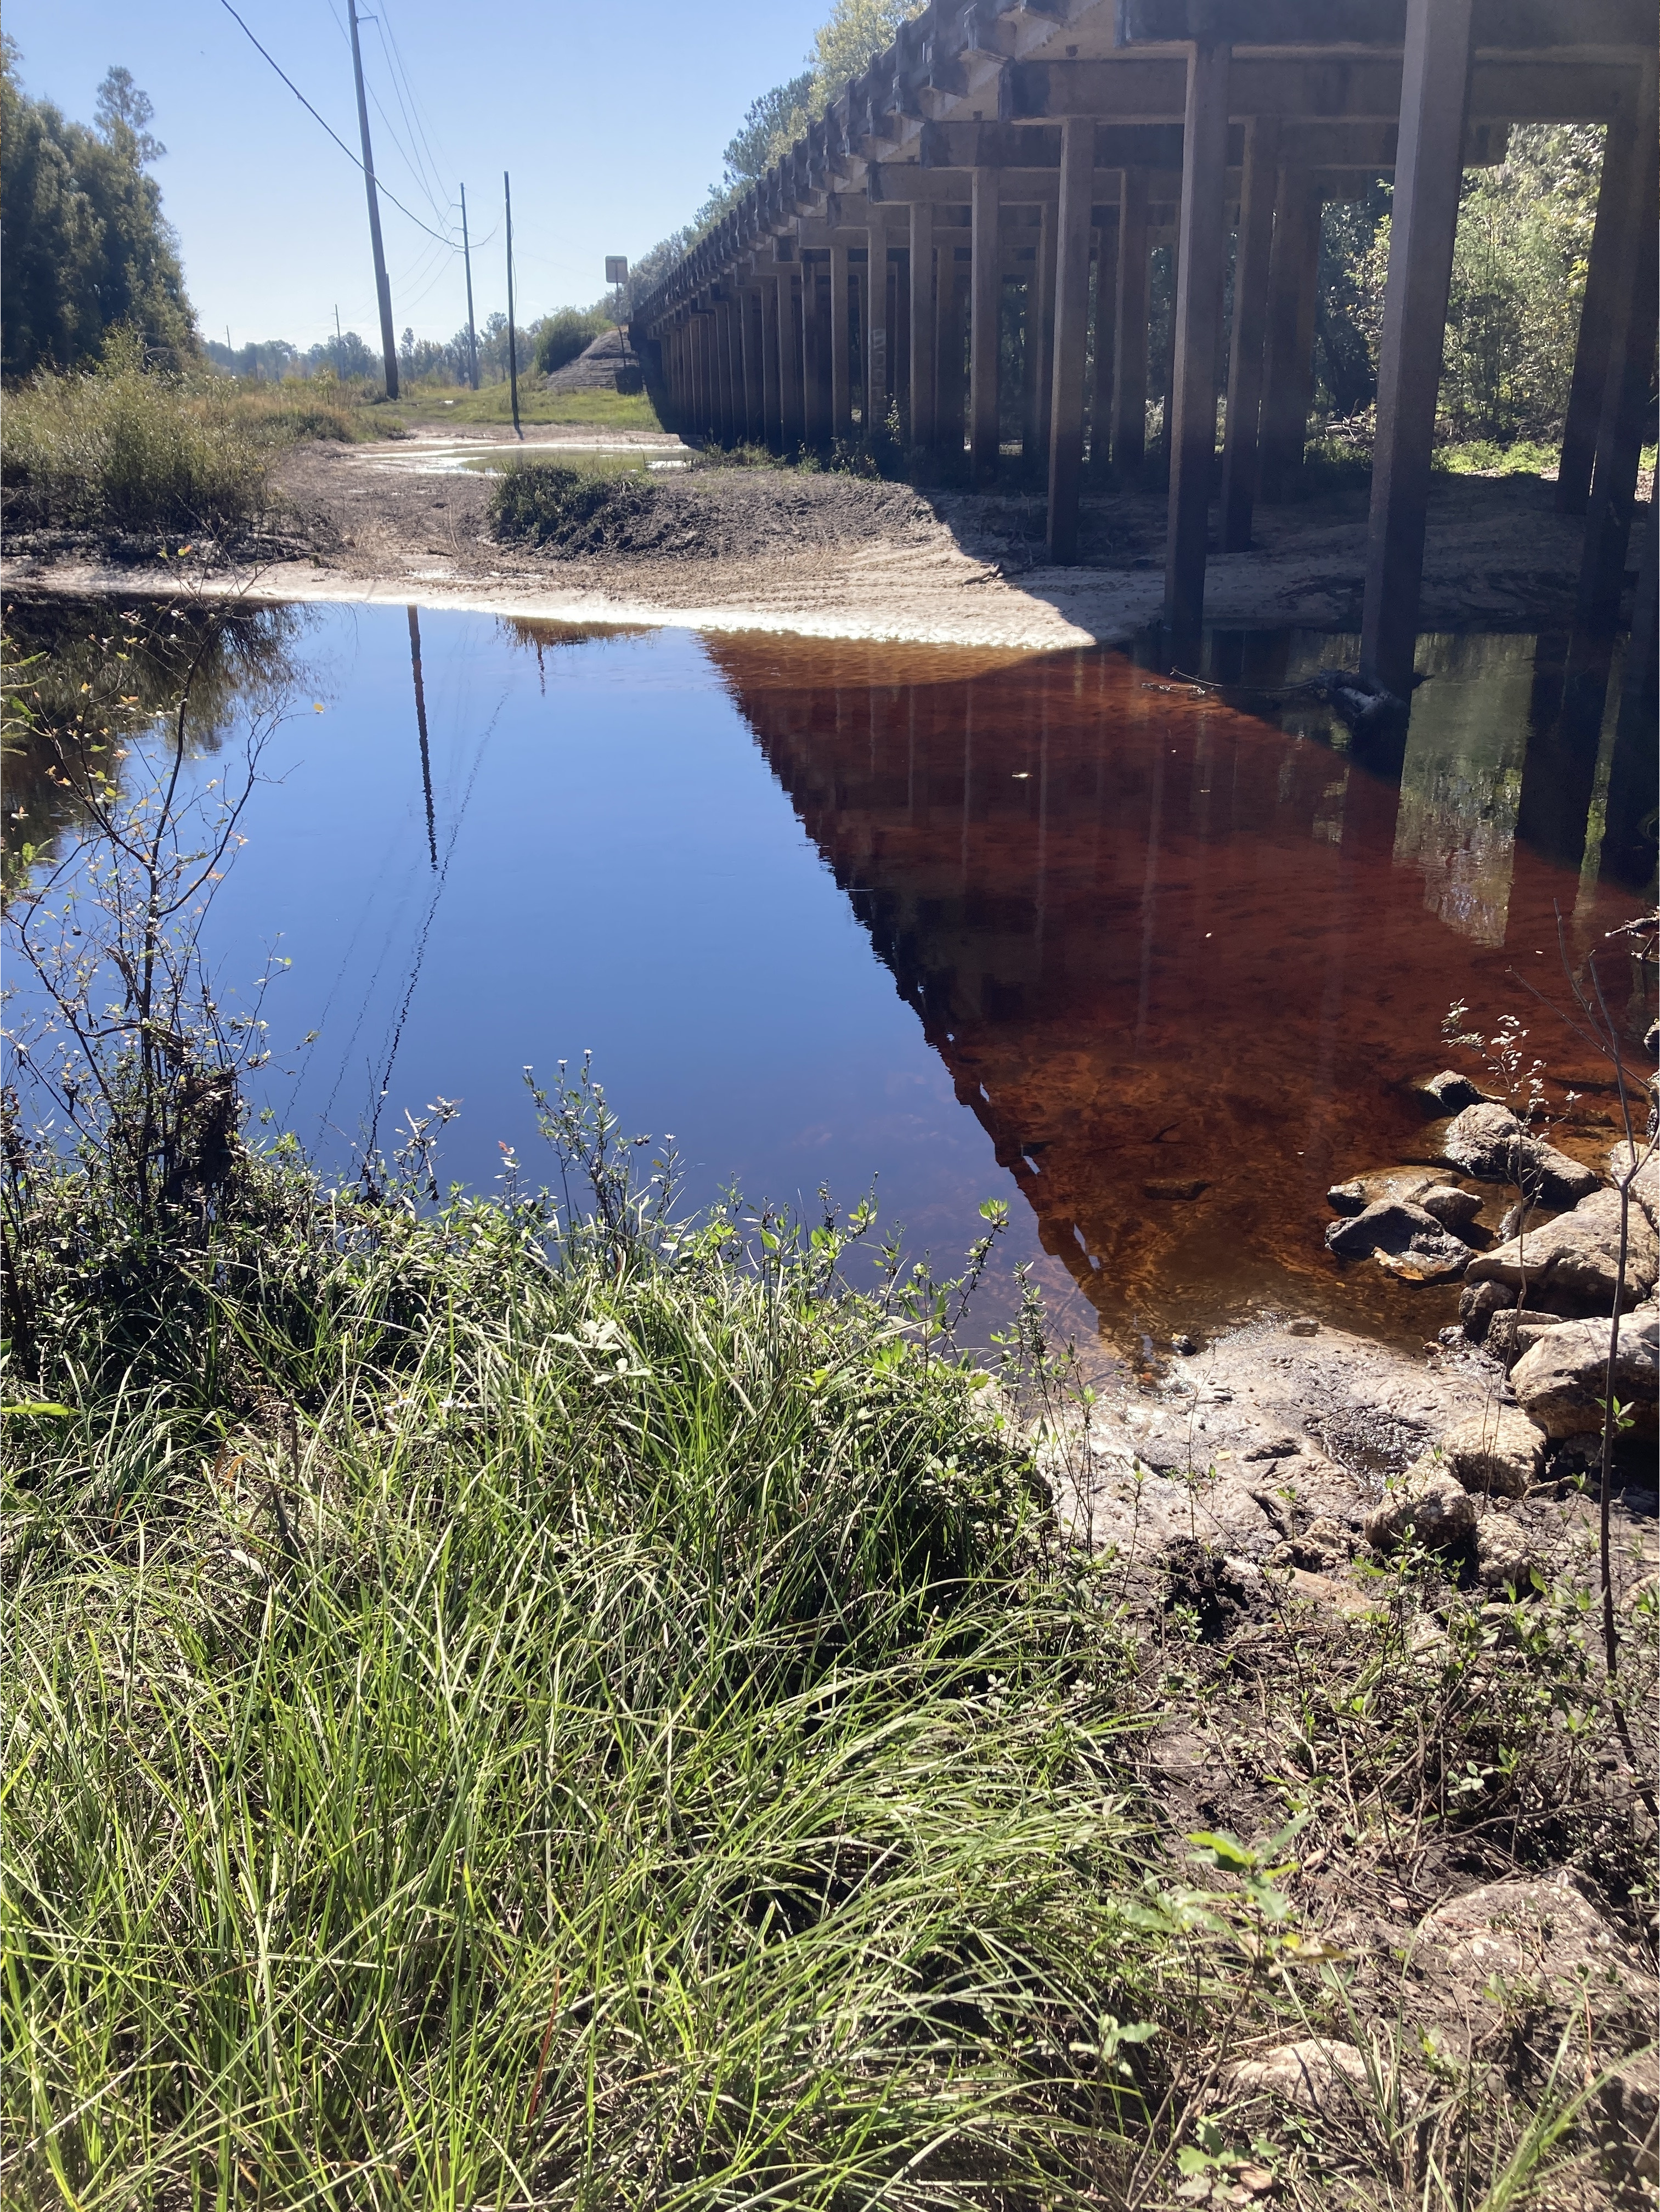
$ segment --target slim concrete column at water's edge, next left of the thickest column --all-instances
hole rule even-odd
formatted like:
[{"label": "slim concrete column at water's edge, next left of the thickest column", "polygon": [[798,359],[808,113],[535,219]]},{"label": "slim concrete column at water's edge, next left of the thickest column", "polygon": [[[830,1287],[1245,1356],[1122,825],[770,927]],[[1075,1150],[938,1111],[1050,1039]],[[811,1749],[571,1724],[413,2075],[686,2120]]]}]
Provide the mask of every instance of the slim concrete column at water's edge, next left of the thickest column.
[{"label": "slim concrete column at water's edge, next left of the thickest column", "polygon": [[1184,648],[1204,615],[1204,542],[1215,460],[1215,365],[1226,265],[1228,46],[1195,46],[1182,117],[1182,226],[1175,268],[1175,378],[1166,400],[1171,526],[1164,624]]}]

